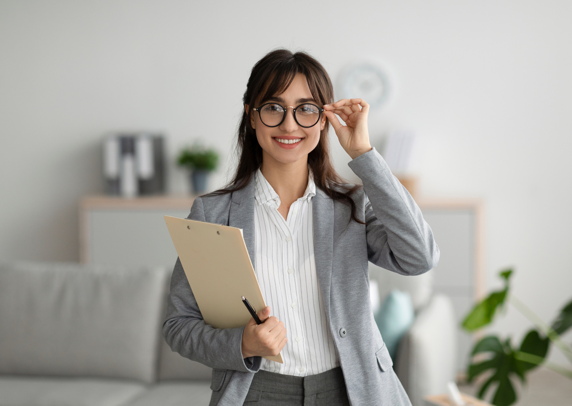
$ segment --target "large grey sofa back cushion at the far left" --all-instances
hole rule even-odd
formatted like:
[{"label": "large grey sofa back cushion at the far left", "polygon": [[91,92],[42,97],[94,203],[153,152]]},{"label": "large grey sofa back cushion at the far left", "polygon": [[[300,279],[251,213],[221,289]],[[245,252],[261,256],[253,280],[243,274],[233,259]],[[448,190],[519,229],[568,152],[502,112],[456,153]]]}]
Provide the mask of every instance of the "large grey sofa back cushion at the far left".
[{"label": "large grey sofa back cushion at the far left", "polygon": [[0,374],[156,379],[163,268],[0,265]]}]

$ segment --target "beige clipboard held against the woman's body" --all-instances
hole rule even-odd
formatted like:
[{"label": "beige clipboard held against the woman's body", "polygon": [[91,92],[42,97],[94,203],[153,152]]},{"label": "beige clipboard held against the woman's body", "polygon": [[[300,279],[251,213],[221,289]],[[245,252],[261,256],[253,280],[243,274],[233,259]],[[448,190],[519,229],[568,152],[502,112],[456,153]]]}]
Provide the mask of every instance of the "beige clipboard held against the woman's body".
[{"label": "beige clipboard held against the woman's body", "polygon": [[[246,325],[252,316],[242,296],[257,311],[266,307],[243,230],[172,216],[164,218],[206,324],[216,329]],[[280,354],[264,358],[284,362]]]}]

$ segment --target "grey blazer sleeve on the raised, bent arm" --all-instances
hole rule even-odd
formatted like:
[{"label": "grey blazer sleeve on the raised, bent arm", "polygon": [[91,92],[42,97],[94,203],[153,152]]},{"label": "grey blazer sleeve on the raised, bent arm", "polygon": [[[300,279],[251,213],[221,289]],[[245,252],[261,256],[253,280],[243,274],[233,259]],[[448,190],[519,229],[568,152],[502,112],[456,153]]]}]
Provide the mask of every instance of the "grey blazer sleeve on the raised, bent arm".
[{"label": "grey blazer sleeve on the raised, bent arm", "polygon": [[439,261],[439,247],[431,228],[383,157],[372,148],[348,165],[362,179],[366,192],[368,259],[403,275],[434,268]]}]

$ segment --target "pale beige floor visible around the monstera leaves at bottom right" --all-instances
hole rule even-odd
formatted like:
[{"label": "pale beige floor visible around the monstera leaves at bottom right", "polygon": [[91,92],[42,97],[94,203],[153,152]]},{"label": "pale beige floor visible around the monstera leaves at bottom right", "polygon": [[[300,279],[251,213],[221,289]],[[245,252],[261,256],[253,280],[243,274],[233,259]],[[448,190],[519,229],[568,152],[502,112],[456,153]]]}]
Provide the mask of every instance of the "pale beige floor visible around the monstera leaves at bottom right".
[{"label": "pale beige floor visible around the monstera leaves at bottom right", "polygon": [[[459,385],[459,389],[476,397],[474,385]],[[518,393],[514,406],[572,406],[572,380],[546,368],[531,372],[527,385],[519,388]],[[492,396],[492,392],[488,396]]]}]

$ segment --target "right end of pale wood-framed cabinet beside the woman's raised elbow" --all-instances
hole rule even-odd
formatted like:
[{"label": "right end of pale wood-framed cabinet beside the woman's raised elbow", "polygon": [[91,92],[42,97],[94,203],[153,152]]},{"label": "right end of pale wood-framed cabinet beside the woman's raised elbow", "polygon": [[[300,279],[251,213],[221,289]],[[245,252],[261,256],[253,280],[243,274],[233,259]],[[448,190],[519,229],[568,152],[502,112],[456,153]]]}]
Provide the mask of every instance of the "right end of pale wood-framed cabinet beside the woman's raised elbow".
[{"label": "right end of pale wood-framed cabinet beside the woman's raised elbow", "polygon": [[421,206],[439,246],[440,259],[435,267],[435,286],[438,293],[448,295],[455,306],[458,322],[457,364],[465,371],[472,348],[472,335],[460,327],[480,292],[479,269],[479,206],[459,204],[439,207]]}]

